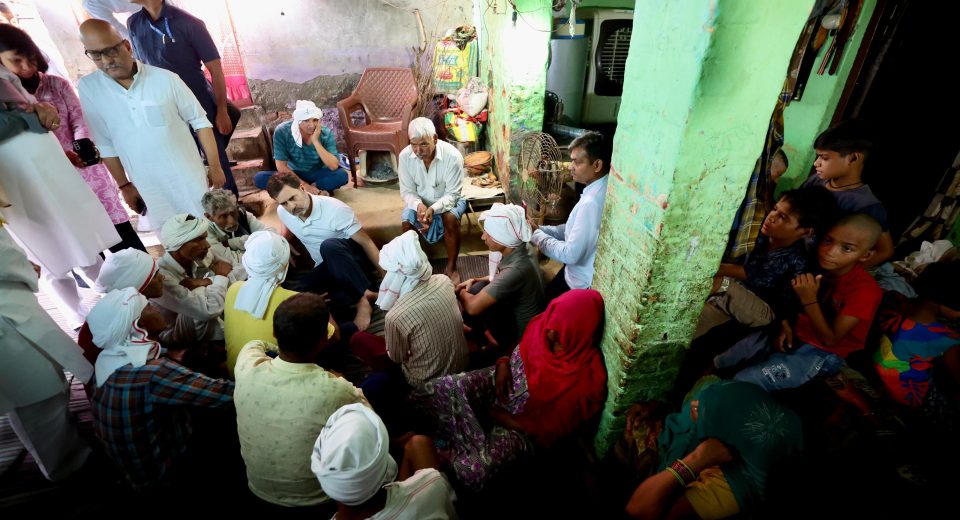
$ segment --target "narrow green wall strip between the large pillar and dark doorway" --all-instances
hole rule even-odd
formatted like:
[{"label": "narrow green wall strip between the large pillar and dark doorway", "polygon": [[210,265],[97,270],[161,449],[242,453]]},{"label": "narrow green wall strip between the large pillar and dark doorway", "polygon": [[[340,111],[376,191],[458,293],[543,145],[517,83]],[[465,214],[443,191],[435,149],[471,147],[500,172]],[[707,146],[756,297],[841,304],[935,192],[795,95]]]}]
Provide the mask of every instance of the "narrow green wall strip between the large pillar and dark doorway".
[{"label": "narrow green wall strip between the large pillar and dark doorway", "polygon": [[800,101],[793,101],[787,105],[783,114],[783,149],[787,159],[790,160],[790,169],[781,178],[777,186],[778,191],[799,186],[810,174],[815,159],[813,140],[830,126],[837,104],[840,102],[840,95],[843,94],[843,87],[850,76],[850,69],[853,68],[853,62],[856,60],[857,51],[863,42],[863,33],[876,6],[877,0],[864,1],[860,16],[857,18],[857,25],[854,26],[853,34],[843,52],[837,75],[820,76],[816,71],[829,46],[830,40],[827,40],[827,44],[820,49],[820,56],[817,57],[803,97]]}]

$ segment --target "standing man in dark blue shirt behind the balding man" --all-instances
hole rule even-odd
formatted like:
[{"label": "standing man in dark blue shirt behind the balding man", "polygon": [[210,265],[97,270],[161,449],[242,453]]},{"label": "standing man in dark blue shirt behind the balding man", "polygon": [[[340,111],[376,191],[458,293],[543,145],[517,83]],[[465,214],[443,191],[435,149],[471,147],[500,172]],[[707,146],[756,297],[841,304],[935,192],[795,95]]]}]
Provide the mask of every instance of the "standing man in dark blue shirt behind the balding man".
[{"label": "standing man in dark blue shirt behind the balding man", "polygon": [[[127,19],[134,54],[147,65],[164,68],[180,76],[200,101],[207,112],[207,119],[213,124],[220,165],[227,178],[223,187],[237,195],[237,184],[227,158],[227,143],[240,120],[240,110],[227,101],[227,83],[223,77],[220,52],[206,25],[199,18],[163,0],[130,0],[130,3],[143,6]],[[213,85],[203,75],[201,64],[210,71]]]}]

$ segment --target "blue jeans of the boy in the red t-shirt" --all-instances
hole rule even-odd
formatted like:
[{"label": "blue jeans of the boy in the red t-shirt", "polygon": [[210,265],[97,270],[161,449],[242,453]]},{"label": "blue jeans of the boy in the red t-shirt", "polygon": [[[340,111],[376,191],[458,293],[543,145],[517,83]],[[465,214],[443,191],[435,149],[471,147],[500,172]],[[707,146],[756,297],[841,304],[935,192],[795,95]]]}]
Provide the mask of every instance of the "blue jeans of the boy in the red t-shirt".
[{"label": "blue jeans of the boy in the red t-shirt", "polygon": [[[759,348],[758,348],[759,347]],[[730,350],[717,356],[714,364],[718,368],[734,358],[746,355],[741,359],[752,357],[748,350],[757,349],[754,355],[758,354],[764,348],[769,349],[772,343],[754,341],[747,347],[743,342],[737,343]],[[740,349],[735,351],[735,349]],[[731,352],[734,351],[734,352]],[[727,365],[732,366],[732,365]],[[753,383],[768,392],[774,390],[783,390],[786,388],[797,388],[813,378],[823,374],[836,374],[843,368],[843,358],[836,354],[831,354],[826,350],[821,350],[813,345],[803,343],[799,347],[788,352],[774,352],[760,362],[753,363],[744,368],[733,378],[737,381]]]}]

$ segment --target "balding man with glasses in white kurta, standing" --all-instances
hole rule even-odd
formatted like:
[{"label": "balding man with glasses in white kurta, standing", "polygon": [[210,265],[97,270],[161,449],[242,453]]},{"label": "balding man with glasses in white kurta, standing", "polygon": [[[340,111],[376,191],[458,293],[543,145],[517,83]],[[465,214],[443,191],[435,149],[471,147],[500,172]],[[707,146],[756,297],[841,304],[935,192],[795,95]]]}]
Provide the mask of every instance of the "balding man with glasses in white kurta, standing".
[{"label": "balding man with glasses in white kurta, standing", "polygon": [[87,20],[80,31],[99,68],[80,78],[80,102],[124,201],[137,209],[142,199],[154,230],[177,213],[202,215],[208,174],[190,127],[208,157],[210,182],[225,181],[203,106],[179,76],[134,60],[130,43],[107,22]]}]

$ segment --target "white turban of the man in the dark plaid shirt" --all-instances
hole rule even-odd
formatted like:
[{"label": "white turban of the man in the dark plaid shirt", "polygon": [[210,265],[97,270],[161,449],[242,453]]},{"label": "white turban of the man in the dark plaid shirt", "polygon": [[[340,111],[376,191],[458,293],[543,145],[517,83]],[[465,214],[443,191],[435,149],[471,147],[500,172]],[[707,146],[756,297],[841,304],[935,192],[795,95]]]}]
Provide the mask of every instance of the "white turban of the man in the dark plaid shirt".
[{"label": "white turban of the man in the dark plaid shirt", "polygon": [[146,306],[147,298],[127,287],[107,293],[87,315],[93,343],[103,349],[94,367],[97,386],[117,369],[141,367],[160,354],[160,345],[147,339],[147,331],[137,324]]}]

